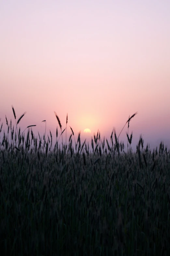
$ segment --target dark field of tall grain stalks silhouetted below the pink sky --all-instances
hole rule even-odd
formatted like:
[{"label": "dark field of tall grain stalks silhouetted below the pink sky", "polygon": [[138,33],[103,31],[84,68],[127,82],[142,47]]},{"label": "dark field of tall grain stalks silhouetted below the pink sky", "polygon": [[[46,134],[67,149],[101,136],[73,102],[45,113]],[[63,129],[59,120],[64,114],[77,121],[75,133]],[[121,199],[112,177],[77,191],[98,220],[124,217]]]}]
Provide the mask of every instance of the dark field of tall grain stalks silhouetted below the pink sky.
[{"label": "dark field of tall grain stalks silhouetted below the pink sky", "polygon": [[80,134],[73,148],[71,129],[60,149],[51,133],[37,142],[17,125],[15,132],[7,122],[0,144],[1,255],[169,255],[170,152],[163,143],[151,151],[140,137],[127,153],[115,131],[115,143],[97,133],[91,152]]}]

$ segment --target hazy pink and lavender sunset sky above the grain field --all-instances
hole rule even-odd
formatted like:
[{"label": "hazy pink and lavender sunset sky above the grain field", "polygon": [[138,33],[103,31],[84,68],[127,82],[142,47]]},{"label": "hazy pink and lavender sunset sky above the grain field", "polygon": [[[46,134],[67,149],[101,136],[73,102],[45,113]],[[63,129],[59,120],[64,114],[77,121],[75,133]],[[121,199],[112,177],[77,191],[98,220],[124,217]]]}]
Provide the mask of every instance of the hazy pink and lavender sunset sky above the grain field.
[{"label": "hazy pink and lavender sunset sky above the grain field", "polygon": [[[0,118],[170,147],[170,1],[0,0]],[[84,133],[89,128],[91,133]],[[119,140],[127,142],[127,126]],[[65,136],[65,133],[64,133]],[[2,133],[0,134],[2,137]]]}]

